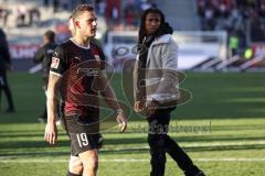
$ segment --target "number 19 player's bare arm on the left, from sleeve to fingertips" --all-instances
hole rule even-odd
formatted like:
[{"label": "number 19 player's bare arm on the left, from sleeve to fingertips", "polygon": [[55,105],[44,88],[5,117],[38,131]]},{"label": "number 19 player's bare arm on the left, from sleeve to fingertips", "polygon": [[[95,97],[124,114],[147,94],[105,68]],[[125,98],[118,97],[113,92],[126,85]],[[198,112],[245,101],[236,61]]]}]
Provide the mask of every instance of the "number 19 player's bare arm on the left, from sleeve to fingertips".
[{"label": "number 19 player's bare arm on the left, from sleeve to fingertips", "polygon": [[46,91],[46,108],[47,108],[47,123],[45,128],[44,139],[50,144],[55,144],[57,140],[56,116],[59,99],[56,96],[56,88],[60,81],[59,76],[50,74],[49,85]]}]

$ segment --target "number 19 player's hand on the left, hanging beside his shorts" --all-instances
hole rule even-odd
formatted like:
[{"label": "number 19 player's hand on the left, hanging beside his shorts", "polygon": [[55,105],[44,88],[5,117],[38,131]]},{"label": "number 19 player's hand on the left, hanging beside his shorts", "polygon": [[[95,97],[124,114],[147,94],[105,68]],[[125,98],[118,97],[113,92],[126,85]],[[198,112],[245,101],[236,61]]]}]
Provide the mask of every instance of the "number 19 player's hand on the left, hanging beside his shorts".
[{"label": "number 19 player's hand on the left, hanging beside his shorts", "polygon": [[47,122],[45,128],[44,140],[51,145],[54,145],[57,140],[57,127],[55,122]]}]

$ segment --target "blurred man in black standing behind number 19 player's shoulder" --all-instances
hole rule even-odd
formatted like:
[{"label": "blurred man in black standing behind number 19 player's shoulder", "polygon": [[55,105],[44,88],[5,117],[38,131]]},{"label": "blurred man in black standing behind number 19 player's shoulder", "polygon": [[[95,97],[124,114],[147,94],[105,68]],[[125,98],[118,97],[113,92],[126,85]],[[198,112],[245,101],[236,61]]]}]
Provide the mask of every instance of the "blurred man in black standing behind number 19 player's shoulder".
[{"label": "blurred man in black standing behind number 19 player's shoulder", "polygon": [[[42,64],[42,78],[43,78],[43,89],[46,91],[49,81],[49,72],[52,63],[52,55],[57,46],[54,42],[55,33],[53,31],[46,31],[43,36],[43,45],[34,55],[34,63]],[[43,113],[38,118],[40,122],[46,121],[46,108]]]}]

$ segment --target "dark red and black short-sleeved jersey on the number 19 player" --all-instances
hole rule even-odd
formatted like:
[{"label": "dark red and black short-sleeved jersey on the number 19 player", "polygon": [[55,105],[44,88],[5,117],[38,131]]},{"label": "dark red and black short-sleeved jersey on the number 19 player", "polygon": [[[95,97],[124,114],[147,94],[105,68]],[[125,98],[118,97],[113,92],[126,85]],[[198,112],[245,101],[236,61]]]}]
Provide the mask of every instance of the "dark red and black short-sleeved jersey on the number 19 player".
[{"label": "dark red and black short-sleeved jersey on the number 19 player", "polygon": [[83,47],[68,40],[57,46],[50,74],[62,77],[57,91],[64,114],[98,119],[97,80],[105,69],[104,61],[102,48],[92,42]]}]

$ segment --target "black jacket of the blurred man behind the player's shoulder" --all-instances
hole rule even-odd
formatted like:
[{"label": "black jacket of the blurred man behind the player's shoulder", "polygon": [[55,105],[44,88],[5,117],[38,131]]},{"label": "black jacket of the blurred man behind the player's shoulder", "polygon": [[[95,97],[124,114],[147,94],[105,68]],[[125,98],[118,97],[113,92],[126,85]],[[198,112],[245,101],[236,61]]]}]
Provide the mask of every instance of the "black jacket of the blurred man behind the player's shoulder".
[{"label": "black jacket of the blurred man behind the player's shoulder", "polygon": [[41,63],[42,64],[42,76],[47,77],[51,63],[52,63],[52,56],[53,52],[56,48],[55,43],[47,43],[44,46],[42,46],[34,55],[34,63]]}]

